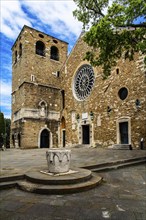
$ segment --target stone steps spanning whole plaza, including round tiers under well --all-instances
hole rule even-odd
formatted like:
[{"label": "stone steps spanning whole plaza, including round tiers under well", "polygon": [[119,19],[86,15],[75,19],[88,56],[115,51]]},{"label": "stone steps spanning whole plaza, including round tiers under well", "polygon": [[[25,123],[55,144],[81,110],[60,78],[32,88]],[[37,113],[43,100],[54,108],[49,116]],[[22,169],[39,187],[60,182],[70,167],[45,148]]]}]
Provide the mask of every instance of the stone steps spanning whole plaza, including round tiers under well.
[{"label": "stone steps spanning whole plaza, including round tiers under well", "polygon": [[86,166],[84,169],[73,168],[72,171],[77,172],[59,176],[43,174],[40,171],[44,171],[44,168],[35,168],[24,175],[1,177],[0,190],[17,187],[39,194],[77,193],[92,189],[102,182],[102,177],[97,176],[94,172],[104,172],[141,163],[146,163],[146,157],[105,162]]}]

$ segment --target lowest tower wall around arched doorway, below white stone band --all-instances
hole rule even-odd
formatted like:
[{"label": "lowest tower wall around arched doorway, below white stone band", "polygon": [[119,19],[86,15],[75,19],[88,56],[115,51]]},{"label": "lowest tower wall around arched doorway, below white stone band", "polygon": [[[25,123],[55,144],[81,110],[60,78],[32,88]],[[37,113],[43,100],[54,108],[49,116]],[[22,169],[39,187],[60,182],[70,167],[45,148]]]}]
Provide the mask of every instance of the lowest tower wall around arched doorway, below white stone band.
[{"label": "lowest tower wall around arched doorway, below white stone band", "polygon": [[[49,132],[49,147],[57,147],[58,143],[58,122],[45,119],[29,119],[15,122],[12,128],[15,132],[15,144],[13,147],[40,148],[41,132],[47,129]],[[19,140],[20,137],[20,140]],[[14,146],[15,145],[15,146]]]}]

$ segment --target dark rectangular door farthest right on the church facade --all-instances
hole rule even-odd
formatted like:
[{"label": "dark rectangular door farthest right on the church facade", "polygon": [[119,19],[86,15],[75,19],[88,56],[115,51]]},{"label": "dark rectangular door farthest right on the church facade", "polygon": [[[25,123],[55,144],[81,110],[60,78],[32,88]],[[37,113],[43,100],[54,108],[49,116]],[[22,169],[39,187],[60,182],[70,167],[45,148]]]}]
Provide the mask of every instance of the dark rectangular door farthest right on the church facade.
[{"label": "dark rectangular door farthest right on the church facade", "polygon": [[120,126],[120,140],[121,144],[129,144],[128,141],[128,122],[121,122]]}]

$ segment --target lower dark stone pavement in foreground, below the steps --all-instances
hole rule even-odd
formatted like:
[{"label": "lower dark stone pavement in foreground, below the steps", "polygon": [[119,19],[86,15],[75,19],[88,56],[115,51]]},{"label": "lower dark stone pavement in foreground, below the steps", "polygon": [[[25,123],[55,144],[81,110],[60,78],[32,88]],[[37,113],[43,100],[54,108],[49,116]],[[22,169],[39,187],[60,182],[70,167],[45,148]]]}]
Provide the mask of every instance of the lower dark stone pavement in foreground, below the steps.
[{"label": "lower dark stone pavement in foreground, below the steps", "polygon": [[98,173],[104,181],[87,192],[37,195],[0,192],[1,220],[145,220],[146,166]]}]

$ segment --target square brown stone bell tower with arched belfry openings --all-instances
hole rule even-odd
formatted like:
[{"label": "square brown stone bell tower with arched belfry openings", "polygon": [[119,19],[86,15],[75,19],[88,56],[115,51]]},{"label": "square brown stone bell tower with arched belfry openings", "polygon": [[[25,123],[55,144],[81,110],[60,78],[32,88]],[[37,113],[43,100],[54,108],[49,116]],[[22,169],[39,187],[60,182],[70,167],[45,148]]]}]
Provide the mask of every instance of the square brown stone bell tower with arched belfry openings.
[{"label": "square brown stone bell tower with arched belfry openings", "polygon": [[12,47],[11,136],[14,147],[58,145],[60,69],[66,61],[67,50],[68,43],[62,40],[28,26],[22,28]]}]

